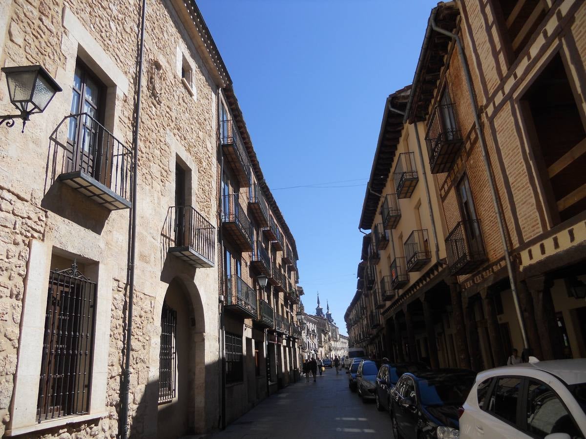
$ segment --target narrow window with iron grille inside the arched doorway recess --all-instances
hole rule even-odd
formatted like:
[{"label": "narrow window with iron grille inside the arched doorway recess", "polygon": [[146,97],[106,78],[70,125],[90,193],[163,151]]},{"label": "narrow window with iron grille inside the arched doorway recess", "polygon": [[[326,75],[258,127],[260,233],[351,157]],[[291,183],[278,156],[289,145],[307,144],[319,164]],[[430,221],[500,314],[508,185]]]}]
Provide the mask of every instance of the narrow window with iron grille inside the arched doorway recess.
[{"label": "narrow window with iron grille inside the arched doorway recess", "polygon": [[177,355],[177,311],[163,303],[161,312],[161,351],[159,351],[159,404],[175,397]]}]

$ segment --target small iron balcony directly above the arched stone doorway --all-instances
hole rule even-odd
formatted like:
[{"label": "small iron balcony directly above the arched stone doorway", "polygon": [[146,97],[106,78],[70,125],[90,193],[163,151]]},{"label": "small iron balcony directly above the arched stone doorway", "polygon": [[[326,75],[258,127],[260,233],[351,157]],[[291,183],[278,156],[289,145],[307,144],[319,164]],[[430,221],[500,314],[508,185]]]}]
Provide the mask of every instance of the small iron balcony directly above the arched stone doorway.
[{"label": "small iron balcony directly above the arched stone doorway", "polygon": [[167,252],[197,268],[214,266],[216,228],[192,206],[171,206],[163,226]]}]

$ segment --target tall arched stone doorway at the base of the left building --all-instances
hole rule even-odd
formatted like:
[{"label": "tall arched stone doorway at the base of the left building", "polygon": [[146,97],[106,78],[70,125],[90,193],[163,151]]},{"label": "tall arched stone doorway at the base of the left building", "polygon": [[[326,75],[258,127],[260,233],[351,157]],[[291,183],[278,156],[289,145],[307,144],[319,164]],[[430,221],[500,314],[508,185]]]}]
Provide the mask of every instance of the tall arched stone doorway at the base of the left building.
[{"label": "tall arched stone doorway at the base of the left building", "polygon": [[161,311],[157,437],[195,433],[195,313],[189,291],[169,284]]}]

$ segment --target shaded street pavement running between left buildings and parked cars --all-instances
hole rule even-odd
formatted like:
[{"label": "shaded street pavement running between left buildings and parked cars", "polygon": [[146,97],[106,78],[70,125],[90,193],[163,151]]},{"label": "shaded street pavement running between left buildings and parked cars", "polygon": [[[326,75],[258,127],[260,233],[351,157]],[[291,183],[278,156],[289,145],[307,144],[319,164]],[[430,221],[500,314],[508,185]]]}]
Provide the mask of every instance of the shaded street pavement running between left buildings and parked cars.
[{"label": "shaded street pavement running between left buildings and parked cars", "polygon": [[[230,402],[228,402],[230,403]],[[392,438],[389,414],[363,403],[348,388],[345,369],[327,369],[317,382],[280,390],[211,435],[214,439]]]}]

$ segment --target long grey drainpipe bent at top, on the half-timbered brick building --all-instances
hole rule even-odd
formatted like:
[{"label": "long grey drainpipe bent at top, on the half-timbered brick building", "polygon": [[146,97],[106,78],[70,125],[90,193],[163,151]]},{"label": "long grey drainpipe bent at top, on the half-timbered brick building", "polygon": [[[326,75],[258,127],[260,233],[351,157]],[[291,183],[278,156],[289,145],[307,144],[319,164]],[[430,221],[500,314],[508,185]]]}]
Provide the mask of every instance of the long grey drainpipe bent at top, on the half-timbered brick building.
[{"label": "long grey drainpipe bent at top, on the half-timbered brick building", "polygon": [[476,103],[476,97],[474,95],[474,91],[472,88],[472,77],[470,74],[470,68],[468,67],[468,61],[466,60],[466,56],[464,54],[464,48],[462,47],[462,42],[458,35],[454,33],[448,32],[442,28],[438,28],[435,24],[435,19],[432,17],[430,18],[431,28],[436,32],[440,32],[441,34],[450,37],[451,39],[455,40],[456,46],[458,46],[458,55],[460,57],[460,61],[462,62],[462,66],[464,67],[464,77],[466,78],[466,86],[468,87],[468,95],[470,97],[470,103],[472,105],[472,114],[474,115],[474,123],[476,125],[476,132],[478,132],[478,140],[481,146],[482,151],[482,160],[484,162],[484,166],[486,168],[486,174],[488,174],[488,183],[490,187],[490,196],[492,196],[492,203],[495,208],[496,212],[496,219],[499,225],[499,232],[500,232],[500,241],[503,245],[503,250],[505,251],[505,262],[507,265],[507,272],[509,273],[509,282],[511,286],[511,293],[513,295],[513,303],[515,304],[515,311],[517,313],[517,320],[519,320],[519,326],[521,328],[521,335],[523,336],[523,345],[525,349],[529,348],[529,339],[527,338],[527,332],[525,330],[525,325],[523,323],[523,314],[521,313],[521,308],[519,306],[519,296],[517,295],[517,287],[515,284],[515,273],[513,272],[513,265],[511,263],[511,256],[509,252],[509,245],[507,243],[507,236],[505,231],[505,222],[503,220],[503,214],[500,211],[500,205],[498,200],[498,195],[496,193],[496,187],[494,183],[494,176],[492,173],[492,168],[490,167],[490,162],[488,159],[488,152],[486,148],[486,142],[484,139],[484,132],[482,131],[480,116],[478,115],[478,104]]}]

